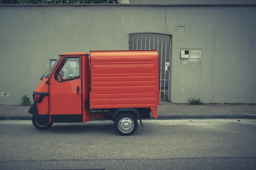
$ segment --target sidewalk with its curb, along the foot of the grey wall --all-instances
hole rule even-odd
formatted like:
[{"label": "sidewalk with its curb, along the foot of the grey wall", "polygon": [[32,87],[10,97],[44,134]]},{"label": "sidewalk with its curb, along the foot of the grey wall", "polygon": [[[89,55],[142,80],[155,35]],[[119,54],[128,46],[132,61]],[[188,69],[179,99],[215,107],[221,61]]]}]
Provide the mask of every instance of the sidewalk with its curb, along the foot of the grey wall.
[{"label": "sidewalk with its curb, along the foot of the grey wall", "polygon": [[[0,105],[0,120],[31,120],[30,106]],[[159,119],[256,119],[256,105],[247,104],[161,104]],[[154,119],[151,115],[150,119]]]}]

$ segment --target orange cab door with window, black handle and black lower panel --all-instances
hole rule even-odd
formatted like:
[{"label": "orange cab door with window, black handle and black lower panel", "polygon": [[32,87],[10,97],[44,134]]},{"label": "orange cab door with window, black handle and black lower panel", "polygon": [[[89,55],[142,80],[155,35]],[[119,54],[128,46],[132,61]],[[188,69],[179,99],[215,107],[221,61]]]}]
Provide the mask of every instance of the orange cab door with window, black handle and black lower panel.
[{"label": "orange cab door with window, black handle and black lower panel", "polygon": [[[51,122],[82,122],[81,56],[64,56],[49,79]],[[56,77],[55,75],[55,77]]]}]

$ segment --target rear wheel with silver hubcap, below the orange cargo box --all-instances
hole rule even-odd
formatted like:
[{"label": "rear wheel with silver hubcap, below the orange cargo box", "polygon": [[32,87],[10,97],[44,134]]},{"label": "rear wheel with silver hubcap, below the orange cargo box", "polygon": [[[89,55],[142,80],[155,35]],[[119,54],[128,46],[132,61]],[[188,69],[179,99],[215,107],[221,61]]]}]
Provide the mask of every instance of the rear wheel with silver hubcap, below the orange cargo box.
[{"label": "rear wheel with silver hubcap, below the orange cargo box", "polygon": [[128,136],[136,131],[138,121],[132,114],[122,113],[115,119],[114,127],[118,134]]}]

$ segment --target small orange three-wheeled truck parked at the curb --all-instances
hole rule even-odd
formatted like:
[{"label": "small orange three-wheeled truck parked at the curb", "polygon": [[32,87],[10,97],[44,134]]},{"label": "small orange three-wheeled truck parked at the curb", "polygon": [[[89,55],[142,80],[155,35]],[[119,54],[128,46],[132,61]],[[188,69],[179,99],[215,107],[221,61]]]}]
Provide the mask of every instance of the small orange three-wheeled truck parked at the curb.
[{"label": "small orange three-wheeled truck parked at the curb", "polygon": [[41,80],[28,111],[40,130],[53,123],[109,119],[117,133],[131,135],[137,119],[143,126],[141,119],[150,113],[157,118],[156,50],[63,53]]}]

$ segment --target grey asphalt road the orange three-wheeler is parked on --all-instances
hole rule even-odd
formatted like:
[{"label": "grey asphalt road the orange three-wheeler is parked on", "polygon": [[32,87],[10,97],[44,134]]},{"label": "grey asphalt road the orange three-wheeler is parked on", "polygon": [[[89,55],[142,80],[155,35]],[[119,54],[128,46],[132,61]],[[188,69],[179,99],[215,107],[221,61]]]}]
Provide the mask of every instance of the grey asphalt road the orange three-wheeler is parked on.
[{"label": "grey asphalt road the orange three-wheeler is parked on", "polygon": [[255,169],[256,120],[143,120],[131,136],[112,121],[0,121],[0,169]]}]

